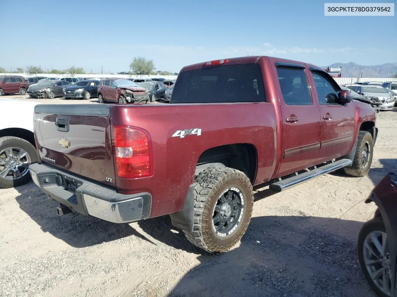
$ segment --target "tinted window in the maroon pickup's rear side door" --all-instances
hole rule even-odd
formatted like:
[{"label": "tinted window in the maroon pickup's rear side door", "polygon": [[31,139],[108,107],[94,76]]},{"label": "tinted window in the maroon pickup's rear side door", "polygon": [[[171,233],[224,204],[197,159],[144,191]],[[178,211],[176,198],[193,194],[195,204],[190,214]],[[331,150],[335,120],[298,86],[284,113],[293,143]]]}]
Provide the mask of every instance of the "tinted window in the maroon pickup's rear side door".
[{"label": "tinted window in the maroon pickup's rear side door", "polygon": [[281,94],[287,105],[312,104],[304,69],[277,67]]}]

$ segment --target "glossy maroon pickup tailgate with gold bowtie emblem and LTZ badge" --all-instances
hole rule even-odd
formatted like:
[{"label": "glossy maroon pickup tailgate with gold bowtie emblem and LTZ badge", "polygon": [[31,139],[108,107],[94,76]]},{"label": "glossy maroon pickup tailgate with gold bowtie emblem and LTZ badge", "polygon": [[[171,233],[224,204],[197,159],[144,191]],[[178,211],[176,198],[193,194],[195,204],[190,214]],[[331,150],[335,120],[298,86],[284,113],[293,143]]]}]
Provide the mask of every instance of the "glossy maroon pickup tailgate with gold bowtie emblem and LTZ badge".
[{"label": "glossy maroon pickup tailgate with gold bowtie emblem and LTZ badge", "polygon": [[37,105],[35,137],[42,162],[115,186],[112,105]]}]

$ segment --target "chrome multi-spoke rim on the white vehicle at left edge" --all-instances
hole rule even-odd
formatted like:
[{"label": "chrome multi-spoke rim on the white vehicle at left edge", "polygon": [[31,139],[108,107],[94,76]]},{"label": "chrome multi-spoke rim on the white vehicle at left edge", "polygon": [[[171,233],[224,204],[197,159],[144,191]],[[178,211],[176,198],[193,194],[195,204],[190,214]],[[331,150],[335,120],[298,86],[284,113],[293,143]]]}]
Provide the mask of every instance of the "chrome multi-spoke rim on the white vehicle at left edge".
[{"label": "chrome multi-spoke rim on the white vehicle at left edge", "polygon": [[22,165],[29,163],[31,158],[23,148],[5,148],[0,152],[0,177],[7,180],[20,179],[29,172],[29,169]]}]

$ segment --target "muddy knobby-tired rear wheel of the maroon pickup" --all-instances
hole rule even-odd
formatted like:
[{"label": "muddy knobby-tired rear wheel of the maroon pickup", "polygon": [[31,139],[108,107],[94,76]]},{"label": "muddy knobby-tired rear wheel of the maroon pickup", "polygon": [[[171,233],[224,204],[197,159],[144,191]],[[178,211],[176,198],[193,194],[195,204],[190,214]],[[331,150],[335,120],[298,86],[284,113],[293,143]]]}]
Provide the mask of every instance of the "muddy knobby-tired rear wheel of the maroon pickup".
[{"label": "muddy knobby-tired rear wheel of the maroon pickup", "polygon": [[225,166],[200,172],[195,178],[193,232],[187,240],[210,253],[222,253],[244,235],[251,221],[254,194],[247,175]]}]

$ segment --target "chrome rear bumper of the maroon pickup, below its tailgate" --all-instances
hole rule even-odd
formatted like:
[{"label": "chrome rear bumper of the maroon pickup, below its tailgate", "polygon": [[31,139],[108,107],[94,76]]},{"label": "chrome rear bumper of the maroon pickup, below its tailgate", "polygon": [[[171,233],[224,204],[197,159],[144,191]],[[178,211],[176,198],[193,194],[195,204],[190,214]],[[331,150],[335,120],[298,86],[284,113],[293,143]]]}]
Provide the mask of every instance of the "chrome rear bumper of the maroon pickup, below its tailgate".
[{"label": "chrome rear bumper of the maroon pickup, below its tailgate", "polygon": [[[113,223],[128,223],[150,216],[152,196],[143,192],[123,195],[47,164],[31,164],[35,184],[52,199],[83,215]],[[75,185],[75,190],[66,190]]]}]

